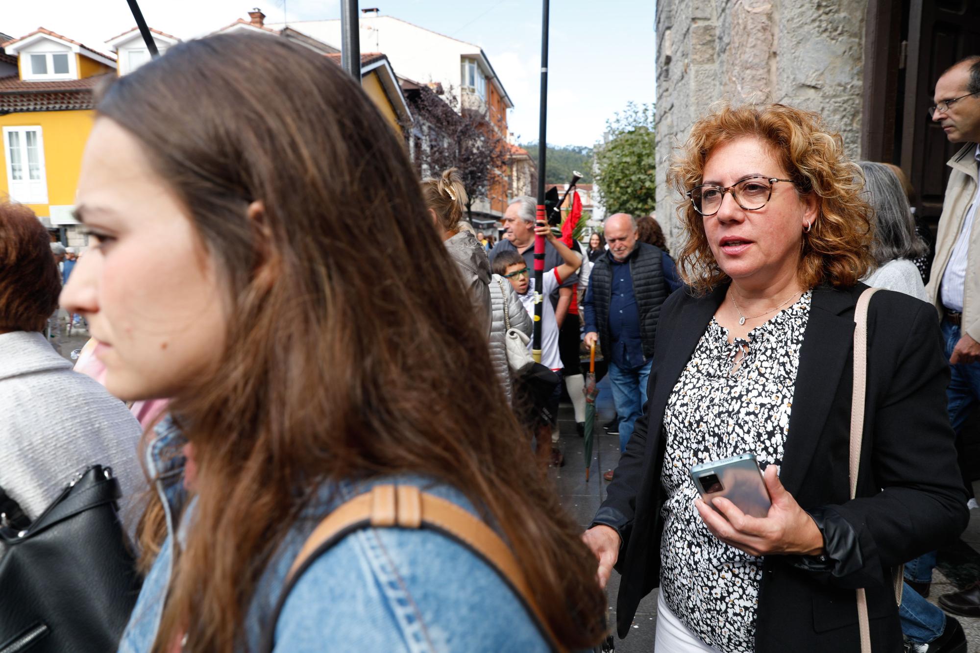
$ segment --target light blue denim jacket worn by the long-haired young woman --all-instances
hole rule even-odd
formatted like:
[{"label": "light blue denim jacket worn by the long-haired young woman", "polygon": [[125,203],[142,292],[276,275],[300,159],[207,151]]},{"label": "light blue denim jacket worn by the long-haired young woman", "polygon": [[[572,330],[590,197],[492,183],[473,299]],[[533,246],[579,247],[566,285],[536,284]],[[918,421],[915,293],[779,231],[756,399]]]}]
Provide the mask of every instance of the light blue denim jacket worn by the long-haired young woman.
[{"label": "light blue denim jacket worn by the long-haired young woman", "polygon": [[[182,540],[192,512],[183,489],[179,428],[166,418],[147,449],[158,478],[169,535],[140,591],[120,642],[120,653],[145,653],[157,628],[172,575],[173,538]],[[387,477],[330,483],[292,527],[256,587],[240,650],[257,650],[286,574],[319,521],[343,501],[379,482],[409,482],[475,514],[457,489],[422,477]],[[548,651],[513,591],[469,549],[432,530],[365,528],[337,543],[295,584],[275,624],[275,651]]]}]

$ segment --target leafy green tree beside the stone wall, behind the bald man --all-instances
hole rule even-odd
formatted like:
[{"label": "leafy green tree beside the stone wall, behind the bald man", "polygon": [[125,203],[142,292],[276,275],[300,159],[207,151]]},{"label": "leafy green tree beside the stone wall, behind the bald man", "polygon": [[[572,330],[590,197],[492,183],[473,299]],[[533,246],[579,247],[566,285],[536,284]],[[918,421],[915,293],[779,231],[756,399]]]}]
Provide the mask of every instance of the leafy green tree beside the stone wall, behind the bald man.
[{"label": "leafy green tree beside the stone wall, behind the bald man", "polygon": [[650,215],[657,208],[654,106],[626,105],[606,122],[610,138],[596,148],[596,183],[608,214]]}]

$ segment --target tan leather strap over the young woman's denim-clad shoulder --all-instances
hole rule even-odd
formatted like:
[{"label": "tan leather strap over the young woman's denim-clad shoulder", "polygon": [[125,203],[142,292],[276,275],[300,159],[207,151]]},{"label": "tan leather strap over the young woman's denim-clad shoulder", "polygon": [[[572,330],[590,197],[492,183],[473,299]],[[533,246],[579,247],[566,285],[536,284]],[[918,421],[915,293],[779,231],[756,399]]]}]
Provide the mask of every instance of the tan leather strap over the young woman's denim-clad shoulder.
[{"label": "tan leather strap over the young woman's denim-clad shoulder", "polygon": [[[314,528],[286,577],[286,592],[325,550],[359,528],[421,528],[438,530],[476,553],[514,590],[553,650],[562,651],[534,600],[511,548],[500,536],[452,501],[419,491],[415,485],[375,485],[343,503]],[[447,579],[448,580],[448,579]],[[283,597],[284,598],[284,597]],[[281,601],[280,601],[281,603]]]}]

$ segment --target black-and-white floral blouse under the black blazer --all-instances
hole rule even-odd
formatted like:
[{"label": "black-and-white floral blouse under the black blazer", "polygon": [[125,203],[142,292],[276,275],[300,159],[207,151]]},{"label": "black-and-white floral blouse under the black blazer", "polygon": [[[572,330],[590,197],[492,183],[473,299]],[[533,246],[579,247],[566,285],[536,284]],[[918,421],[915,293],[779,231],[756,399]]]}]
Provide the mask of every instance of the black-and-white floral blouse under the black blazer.
[{"label": "black-and-white floral blouse under the black blazer", "polygon": [[687,628],[724,653],[754,649],[762,559],[711,534],[688,471],[742,453],[756,454],[762,470],[782,464],[811,295],[745,340],[728,342],[712,318],[663,414],[661,591]]}]

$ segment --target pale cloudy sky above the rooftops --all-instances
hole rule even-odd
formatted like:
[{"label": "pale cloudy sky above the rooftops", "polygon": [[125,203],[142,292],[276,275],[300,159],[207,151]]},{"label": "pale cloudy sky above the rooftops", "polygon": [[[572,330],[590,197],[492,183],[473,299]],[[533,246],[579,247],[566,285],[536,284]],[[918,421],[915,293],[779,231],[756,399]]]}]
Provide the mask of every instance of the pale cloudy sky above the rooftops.
[{"label": "pale cloudy sky above the rooftops", "polygon": [[[0,32],[14,37],[44,26],[106,50],[107,39],[135,25],[125,0],[0,2]],[[606,121],[627,102],[653,103],[654,4],[552,0],[549,143],[593,145],[602,137]],[[150,26],[181,38],[247,19],[254,6],[230,0],[139,0],[139,5]],[[360,5],[482,47],[514,101],[511,130],[520,142],[537,140],[540,2],[368,0]],[[259,7],[268,23],[340,18],[338,0],[264,0]],[[392,65],[397,73],[398,62]]]}]

